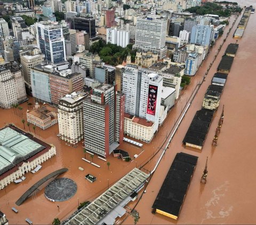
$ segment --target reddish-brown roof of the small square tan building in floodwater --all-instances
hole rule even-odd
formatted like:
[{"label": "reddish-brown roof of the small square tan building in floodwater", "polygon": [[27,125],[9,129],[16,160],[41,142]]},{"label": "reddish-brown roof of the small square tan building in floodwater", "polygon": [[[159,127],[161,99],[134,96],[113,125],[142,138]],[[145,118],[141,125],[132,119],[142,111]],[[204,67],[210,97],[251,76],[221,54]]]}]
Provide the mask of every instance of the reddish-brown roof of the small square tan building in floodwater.
[{"label": "reddish-brown roof of the small square tan building in floodwater", "polygon": [[49,104],[43,104],[41,107],[35,110],[28,111],[27,114],[34,115],[36,118],[40,120],[46,120],[46,119],[56,119],[58,118],[58,109],[49,105]]}]

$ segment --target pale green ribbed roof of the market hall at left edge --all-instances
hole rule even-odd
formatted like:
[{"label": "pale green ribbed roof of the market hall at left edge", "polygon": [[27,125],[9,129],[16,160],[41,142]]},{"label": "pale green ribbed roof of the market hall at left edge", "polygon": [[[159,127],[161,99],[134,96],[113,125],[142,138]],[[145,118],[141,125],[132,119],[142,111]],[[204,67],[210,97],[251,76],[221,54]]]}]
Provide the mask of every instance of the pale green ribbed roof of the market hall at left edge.
[{"label": "pale green ribbed roof of the market hall at left edge", "polygon": [[50,147],[10,124],[2,128],[0,130],[0,179],[5,172],[10,171],[20,162]]}]

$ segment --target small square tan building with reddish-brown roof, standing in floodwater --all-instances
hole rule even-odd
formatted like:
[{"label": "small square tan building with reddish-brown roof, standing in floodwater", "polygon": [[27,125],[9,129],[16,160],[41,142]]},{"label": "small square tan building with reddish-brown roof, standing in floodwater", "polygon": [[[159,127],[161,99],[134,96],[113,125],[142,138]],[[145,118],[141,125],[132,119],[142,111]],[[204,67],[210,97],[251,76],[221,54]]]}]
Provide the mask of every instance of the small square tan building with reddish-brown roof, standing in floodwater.
[{"label": "small square tan building with reddish-brown roof, standing in floodwater", "polygon": [[43,104],[38,109],[27,111],[27,121],[45,130],[58,123],[58,110],[49,104]]}]

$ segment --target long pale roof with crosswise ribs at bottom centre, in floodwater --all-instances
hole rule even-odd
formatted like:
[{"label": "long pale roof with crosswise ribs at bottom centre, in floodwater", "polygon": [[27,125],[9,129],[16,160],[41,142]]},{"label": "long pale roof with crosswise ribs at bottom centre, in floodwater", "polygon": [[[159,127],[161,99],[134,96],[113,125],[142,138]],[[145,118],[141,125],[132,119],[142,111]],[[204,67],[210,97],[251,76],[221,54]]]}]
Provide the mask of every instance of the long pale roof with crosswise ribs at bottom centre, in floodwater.
[{"label": "long pale roof with crosswise ribs at bottom centre, in floodwater", "polygon": [[111,211],[116,209],[125,198],[133,194],[135,189],[140,187],[148,177],[149,175],[145,172],[134,168],[91,204],[71,215],[62,224],[98,224],[100,220],[106,218]]}]

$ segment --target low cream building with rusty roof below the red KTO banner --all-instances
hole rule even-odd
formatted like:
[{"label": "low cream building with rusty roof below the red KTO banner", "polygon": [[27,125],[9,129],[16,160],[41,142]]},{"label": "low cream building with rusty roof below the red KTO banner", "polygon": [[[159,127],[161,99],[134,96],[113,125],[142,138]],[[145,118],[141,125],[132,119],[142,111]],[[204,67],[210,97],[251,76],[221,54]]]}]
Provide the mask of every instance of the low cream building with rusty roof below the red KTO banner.
[{"label": "low cream building with rusty roof below the red KTO banner", "polygon": [[128,113],[124,114],[124,135],[150,143],[157,130],[154,122]]}]

